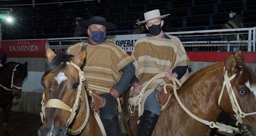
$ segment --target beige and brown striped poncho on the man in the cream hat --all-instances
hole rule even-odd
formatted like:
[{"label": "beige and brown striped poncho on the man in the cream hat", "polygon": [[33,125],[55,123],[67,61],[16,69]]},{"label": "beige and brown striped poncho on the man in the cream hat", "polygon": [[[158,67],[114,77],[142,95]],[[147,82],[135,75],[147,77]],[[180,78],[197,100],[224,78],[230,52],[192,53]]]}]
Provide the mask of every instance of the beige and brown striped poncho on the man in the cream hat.
[{"label": "beige and brown striped poncho on the man in the cream hat", "polygon": [[[134,59],[135,75],[142,87],[159,73],[172,72],[177,66],[191,66],[191,62],[179,38],[170,39],[143,37],[134,44],[131,57]],[[181,78],[183,83],[189,77],[188,70]],[[160,89],[169,80],[165,77],[154,80],[147,88]],[[133,88],[131,88],[132,90]]]}]

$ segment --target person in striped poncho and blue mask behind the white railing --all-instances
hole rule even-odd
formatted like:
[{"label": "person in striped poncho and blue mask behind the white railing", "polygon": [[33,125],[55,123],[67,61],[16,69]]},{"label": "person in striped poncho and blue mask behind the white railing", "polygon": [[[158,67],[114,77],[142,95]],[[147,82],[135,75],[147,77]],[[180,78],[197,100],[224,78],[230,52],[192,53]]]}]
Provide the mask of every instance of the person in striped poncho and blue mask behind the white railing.
[{"label": "person in striped poncho and blue mask behind the white railing", "polygon": [[[229,13],[230,19],[227,23],[224,24],[222,27],[223,29],[238,29],[238,28],[244,28],[243,25],[243,16],[241,15],[241,12],[239,9],[233,8]],[[231,33],[238,33],[237,31],[233,31]],[[237,40],[237,34],[231,34],[231,35],[221,35],[222,41],[234,41]],[[246,40],[245,34],[239,34],[238,40]],[[238,48],[239,47],[239,48]],[[227,47],[219,47],[219,51],[227,50]],[[247,46],[236,46],[234,43],[230,47],[230,51],[246,51]]]}]

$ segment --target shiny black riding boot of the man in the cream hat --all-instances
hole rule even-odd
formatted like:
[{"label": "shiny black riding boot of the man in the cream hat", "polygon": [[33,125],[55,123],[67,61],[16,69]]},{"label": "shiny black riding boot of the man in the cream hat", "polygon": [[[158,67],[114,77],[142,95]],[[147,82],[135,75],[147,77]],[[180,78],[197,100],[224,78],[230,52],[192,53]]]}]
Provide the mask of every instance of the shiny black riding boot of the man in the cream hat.
[{"label": "shiny black riding boot of the man in the cream hat", "polygon": [[159,115],[145,110],[140,116],[137,126],[137,136],[151,136],[155,129]]}]

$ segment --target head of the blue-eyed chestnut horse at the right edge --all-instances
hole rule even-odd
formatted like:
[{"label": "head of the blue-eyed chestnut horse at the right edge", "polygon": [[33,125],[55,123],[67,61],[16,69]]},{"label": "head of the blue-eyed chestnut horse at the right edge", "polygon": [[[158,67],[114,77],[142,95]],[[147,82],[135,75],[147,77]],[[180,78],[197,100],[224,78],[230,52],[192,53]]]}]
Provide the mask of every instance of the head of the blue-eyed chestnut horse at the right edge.
[{"label": "head of the blue-eyed chestnut horse at the right edge", "polygon": [[[248,131],[247,125],[256,135],[256,76],[245,65],[241,51],[230,54],[224,64],[223,96],[220,95],[218,104],[237,124],[239,122],[240,131]],[[225,84],[229,87],[224,87]]]}]

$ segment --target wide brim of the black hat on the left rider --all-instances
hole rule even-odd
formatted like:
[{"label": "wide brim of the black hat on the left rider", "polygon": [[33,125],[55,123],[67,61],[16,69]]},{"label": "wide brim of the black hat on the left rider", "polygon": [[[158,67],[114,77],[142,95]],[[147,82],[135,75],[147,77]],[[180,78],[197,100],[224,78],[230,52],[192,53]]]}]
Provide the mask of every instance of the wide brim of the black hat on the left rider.
[{"label": "wide brim of the black hat on the left rider", "polygon": [[106,30],[115,30],[116,25],[109,22],[102,22],[102,21],[94,21],[94,20],[82,20],[79,22],[79,24],[83,27],[88,28],[91,24],[100,24],[102,26],[106,27]]}]

